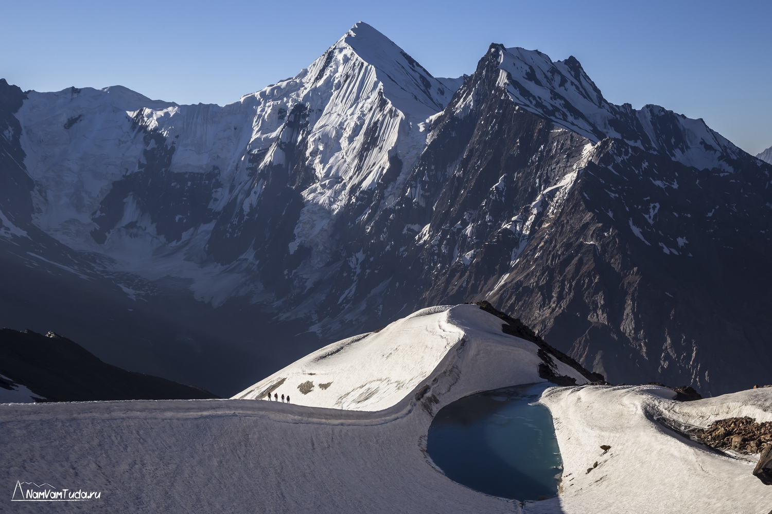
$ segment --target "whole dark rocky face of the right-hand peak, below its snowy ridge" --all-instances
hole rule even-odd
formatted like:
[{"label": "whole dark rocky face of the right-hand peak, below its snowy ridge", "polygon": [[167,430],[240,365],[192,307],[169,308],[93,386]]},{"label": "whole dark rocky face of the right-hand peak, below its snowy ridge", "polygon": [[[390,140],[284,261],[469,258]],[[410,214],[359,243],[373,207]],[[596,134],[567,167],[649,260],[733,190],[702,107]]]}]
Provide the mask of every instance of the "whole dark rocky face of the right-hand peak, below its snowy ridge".
[{"label": "whole dark rocky face of the right-hand peak, below its snowy ridge", "polygon": [[[762,380],[770,170],[750,156],[734,173],[698,170],[612,138],[583,162],[587,139],[497,94],[487,66],[438,118],[412,175],[421,193],[382,216],[384,230],[428,223],[400,256],[404,297],[491,301],[611,381],[715,394]],[[472,95],[459,119],[454,103]],[[572,185],[543,193],[572,170]]]}]

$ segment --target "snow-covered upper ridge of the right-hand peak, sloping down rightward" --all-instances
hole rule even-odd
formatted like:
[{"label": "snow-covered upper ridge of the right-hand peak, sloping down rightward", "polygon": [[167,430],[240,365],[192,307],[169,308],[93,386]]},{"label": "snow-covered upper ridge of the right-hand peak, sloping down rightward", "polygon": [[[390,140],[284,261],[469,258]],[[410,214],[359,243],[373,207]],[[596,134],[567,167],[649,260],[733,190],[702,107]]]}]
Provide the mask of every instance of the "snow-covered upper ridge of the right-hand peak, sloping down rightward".
[{"label": "snow-covered upper ridge of the right-hand peak, sloping down rightward", "polygon": [[[492,59],[493,58],[493,59]],[[552,61],[538,50],[490,46],[486,72],[498,69],[496,86],[518,106],[590,139],[611,137],[699,169],[733,171],[742,152],[701,119],[660,106],[632,109],[604,99],[573,55]],[[462,111],[460,108],[459,111]]]}]

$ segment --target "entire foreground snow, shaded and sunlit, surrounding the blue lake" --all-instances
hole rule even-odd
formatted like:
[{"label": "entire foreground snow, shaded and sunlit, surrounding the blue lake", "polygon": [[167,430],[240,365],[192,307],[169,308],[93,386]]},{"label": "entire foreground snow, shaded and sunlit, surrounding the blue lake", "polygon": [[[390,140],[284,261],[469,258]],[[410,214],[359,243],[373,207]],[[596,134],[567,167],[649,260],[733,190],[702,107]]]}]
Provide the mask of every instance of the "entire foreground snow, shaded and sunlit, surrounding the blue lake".
[{"label": "entire foreground snow, shaded and sunlit, surrounding the blue lake", "polygon": [[[275,391],[288,392],[292,404],[2,405],[0,484],[7,494],[0,505],[8,512],[52,507],[11,502],[19,480],[102,492],[100,499],[56,504],[56,512],[770,509],[772,488],[751,475],[752,463],[709,452],[657,421],[706,426],[737,415],[770,421],[768,388],[689,403],[655,386],[550,388],[542,401],[553,413],[565,465],[558,498],[521,504],[446,478],[425,453],[439,408],[475,391],[543,381],[537,345],[503,334],[501,325],[476,305],[425,309],[314,352],[240,394],[260,395],[286,378]],[[306,395],[300,380],[314,384]],[[600,445],[611,449],[601,455]]]}]

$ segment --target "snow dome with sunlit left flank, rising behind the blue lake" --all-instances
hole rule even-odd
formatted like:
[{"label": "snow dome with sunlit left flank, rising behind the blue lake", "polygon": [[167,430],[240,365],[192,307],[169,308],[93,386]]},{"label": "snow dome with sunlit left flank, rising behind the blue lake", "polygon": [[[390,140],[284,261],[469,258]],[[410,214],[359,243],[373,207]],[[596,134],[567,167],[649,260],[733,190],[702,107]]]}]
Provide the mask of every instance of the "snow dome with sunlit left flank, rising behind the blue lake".
[{"label": "snow dome with sunlit left flank, rising behind the blue lake", "polygon": [[[479,352],[509,362],[506,374],[518,383],[543,381],[538,351],[530,341],[503,334],[502,321],[476,305],[428,307],[381,331],[321,348],[233,398],[289,395],[294,404],[380,411],[405,401],[427,377],[459,368],[459,359]],[[587,381],[559,364],[561,375]]]}]

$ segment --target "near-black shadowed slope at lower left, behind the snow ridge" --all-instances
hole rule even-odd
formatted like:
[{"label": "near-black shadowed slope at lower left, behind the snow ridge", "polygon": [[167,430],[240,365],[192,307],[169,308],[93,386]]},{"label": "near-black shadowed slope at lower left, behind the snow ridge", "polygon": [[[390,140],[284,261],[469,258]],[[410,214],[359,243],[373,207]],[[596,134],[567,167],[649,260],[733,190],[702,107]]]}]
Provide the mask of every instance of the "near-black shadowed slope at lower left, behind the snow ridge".
[{"label": "near-black shadowed slope at lower left, behind the snow ridge", "polygon": [[219,398],[195,386],[105,364],[53,332],[0,329],[0,375],[39,395],[39,401]]}]

